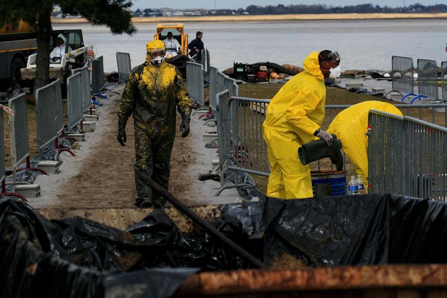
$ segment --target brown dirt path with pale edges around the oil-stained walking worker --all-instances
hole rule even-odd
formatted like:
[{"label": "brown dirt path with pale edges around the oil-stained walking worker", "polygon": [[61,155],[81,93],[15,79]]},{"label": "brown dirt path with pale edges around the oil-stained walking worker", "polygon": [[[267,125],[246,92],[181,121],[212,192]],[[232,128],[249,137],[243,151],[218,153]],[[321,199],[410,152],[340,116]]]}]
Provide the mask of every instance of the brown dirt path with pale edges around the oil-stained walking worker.
[{"label": "brown dirt path with pale edges around the oil-stained walking worker", "polygon": [[[122,92],[123,85],[114,91]],[[127,143],[116,140],[116,107],[120,95],[109,93],[110,101],[97,108],[96,130],[81,142],[77,156],[60,155],[60,173],[39,176],[42,197],[31,201],[35,208],[126,208],[133,207],[136,197],[133,165],[135,162],[133,119],[126,126]],[[191,133],[181,138],[177,129],[171,154],[169,191],[187,205],[233,203],[235,189],[214,197],[217,181],[199,181],[200,173],[211,170],[211,159],[218,158],[216,149],[206,149],[202,134],[215,129],[203,125],[199,114],[192,117]],[[180,117],[177,118],[177,126]]]}]

